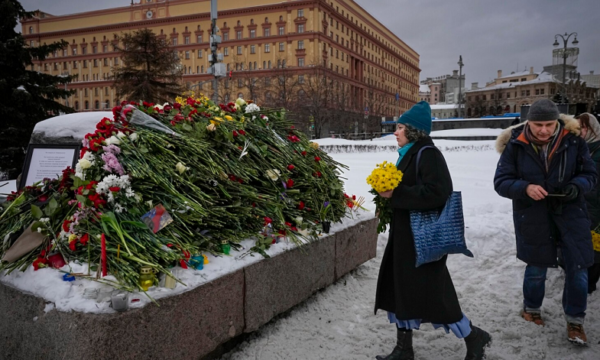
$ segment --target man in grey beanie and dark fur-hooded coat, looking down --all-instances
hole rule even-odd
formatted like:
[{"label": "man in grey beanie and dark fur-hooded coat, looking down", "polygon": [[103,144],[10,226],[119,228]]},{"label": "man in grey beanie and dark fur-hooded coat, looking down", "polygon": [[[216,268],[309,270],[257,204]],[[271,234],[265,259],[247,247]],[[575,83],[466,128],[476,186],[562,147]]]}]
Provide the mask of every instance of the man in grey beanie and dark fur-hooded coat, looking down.
[{"label": "man in grey beanie and dark fur-hooded coat, looking down", "polygon": [[517,258],[527,263],[523,282],[525,320],[543,325],[546,271],[565,263],[563,309],[568,340],[585,345],[587,268],[594,262],[583,195],[596,183],[596,167],[576,121],[563,121],[556,105],[538,100],[528,121],[498,137],[502,153],[494,187],[513,200]]}]

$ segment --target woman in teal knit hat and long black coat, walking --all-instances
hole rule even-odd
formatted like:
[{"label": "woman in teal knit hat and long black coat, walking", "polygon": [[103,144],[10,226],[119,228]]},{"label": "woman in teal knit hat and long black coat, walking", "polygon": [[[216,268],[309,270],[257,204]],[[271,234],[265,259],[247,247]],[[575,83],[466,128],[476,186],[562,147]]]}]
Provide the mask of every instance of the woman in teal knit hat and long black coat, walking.
[{"label": "woman in teal knit hat and long black coat, walking", "polygon": [[418,169],[421,182],[417,184],[416,158],[421,148],[433,145],[430,132],[431,108],[427,102],[419,102],[400,117],[394,133],[400,146],[396,166],[404,175],[394,190],[380,194],[391,198],[393,218],[377,280],[375,313],[378,309],[387,311],[390,323],[397,328],[397,343],[391,354],[377,356],[379,360],[414,359],[412,331],[424,322],[463,338],[467,360],[483,359],[485,347],[491,343],[491,336],[462,313],[446,267],[447,256],[416,267],[409,211],[441,210],[452,193],[448,166],[437,149],[422,152]]}]

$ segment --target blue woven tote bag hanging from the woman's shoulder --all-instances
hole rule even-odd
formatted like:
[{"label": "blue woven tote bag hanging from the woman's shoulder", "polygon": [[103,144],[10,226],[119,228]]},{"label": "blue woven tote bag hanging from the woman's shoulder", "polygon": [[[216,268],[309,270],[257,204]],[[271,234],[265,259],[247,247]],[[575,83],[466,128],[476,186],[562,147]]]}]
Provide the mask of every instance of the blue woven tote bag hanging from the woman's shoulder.
[{"label": "blue woven tote bag hanging from the woman's shoulder", "polygon": [[[427,148],[437,151],[435,146],[424,146],[417,154],[417,184],[419,160]],[[473,257],[465,243],[465,220],[460,191],[453,191],[441,213],[437,210],[410,211],[410,226],[415,239],[416,267],[440,260],[447,254],[465,254]]]}]

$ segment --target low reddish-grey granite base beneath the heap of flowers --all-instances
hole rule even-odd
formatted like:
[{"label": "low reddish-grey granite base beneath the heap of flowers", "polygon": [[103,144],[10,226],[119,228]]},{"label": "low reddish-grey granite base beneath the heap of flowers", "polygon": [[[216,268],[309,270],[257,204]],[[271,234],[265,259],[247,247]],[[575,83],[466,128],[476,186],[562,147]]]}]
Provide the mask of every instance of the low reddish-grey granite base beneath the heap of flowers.
[{"label": "low reddish-grey granite base beneath the heap of flowers", "polygon": [[0,359],[202,359],[374,258],[377,222],[124,313],[45,312],[44,299],[0,283]]}]

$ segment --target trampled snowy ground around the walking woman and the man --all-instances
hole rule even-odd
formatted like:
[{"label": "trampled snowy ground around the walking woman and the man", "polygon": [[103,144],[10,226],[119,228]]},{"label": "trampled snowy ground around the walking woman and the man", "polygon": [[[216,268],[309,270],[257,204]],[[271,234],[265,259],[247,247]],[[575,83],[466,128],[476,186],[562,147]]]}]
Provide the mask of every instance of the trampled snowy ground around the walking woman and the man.
[{"label": "trampled snowy ground around the walking woman and the man", "polygon": [[[589,346],[574,347],[566,340],[561,305],[564,276],[560,270],[548,271],[542,307],[546,326],[527,323],[519,316],[525,264],[516,258],[511,203],[493,188],[499,157],[492,150],[493,142],[436,144],[444,152],[455,190],[462,191],[467,244],[475,254],[474,259],[452,255],[448,267],[463,312],[493,336],[487,359],[600,359],[600,293],[588,298],[585,330]],[[375,164],[397,158],[393,152],[332,156],[350,167],[344,174],[347,193],[368,200],[372,196],[365,182],[367,175]],[[366,205],[373,208],[369,201]],[[375,259],[264,326],[222,359],[374,359],[389,353],[395,345],[394,326],[388,323],[385,312],[373,314],[387,241],[388,234],[381,234]],[[414,332],[414,348],[419,360],[464,359],[466,352],[462,340],[442,329],[433,330],[430,324]]]}]

